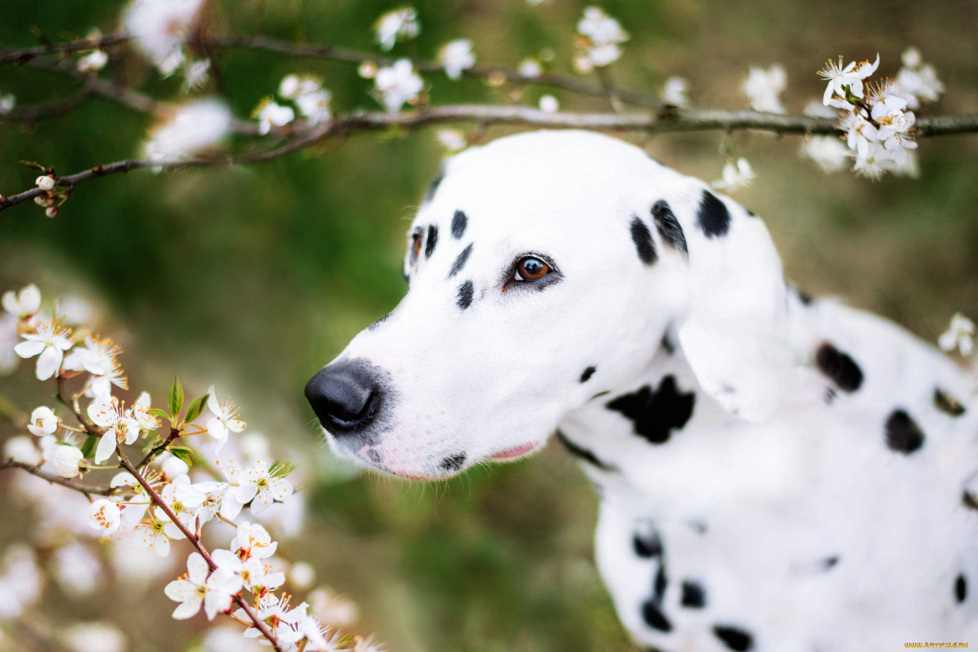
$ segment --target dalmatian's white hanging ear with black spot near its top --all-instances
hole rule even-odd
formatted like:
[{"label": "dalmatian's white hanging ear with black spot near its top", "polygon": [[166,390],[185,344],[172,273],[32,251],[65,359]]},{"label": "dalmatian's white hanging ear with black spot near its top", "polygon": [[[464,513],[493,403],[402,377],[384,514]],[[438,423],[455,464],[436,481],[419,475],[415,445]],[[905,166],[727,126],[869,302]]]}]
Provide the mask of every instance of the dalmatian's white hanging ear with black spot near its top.
[{"label": "dalmatian's white hanging ear with black spot near its top", "polygon": [[[793,361],[778,252],[760,218],[702,182],[676,199],[689,250],[680,345],[710,396],[743,419],[764,421],[785,394]],[[663,216],[652,213],[659,226]]]}]

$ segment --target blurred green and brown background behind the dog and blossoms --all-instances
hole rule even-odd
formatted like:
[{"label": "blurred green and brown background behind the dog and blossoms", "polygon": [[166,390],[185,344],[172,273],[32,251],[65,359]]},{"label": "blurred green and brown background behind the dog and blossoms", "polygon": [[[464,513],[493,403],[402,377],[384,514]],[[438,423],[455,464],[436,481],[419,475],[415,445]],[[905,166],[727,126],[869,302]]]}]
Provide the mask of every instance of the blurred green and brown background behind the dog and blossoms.
[{"label": "blurred green and brown background behind the dog and blossoms", "polygon": [[[552,48],[554,69],[569,72],[574,24],[586,4],[422,0],[415,3],[421,36],[394,54],[432,58],[443,42],[465,36],[480,63],[514,67]],[[377,51],[372,25],[395,6],[215,0],[209,13],[218,33],[264,29]],[[632,34],[612,75],[633,89],[656,93],[667,76],[680,74],[695,104],[740,108],[748,67],[780,63],[788,72],[782,98],[797,114],[821,98],[816,70],[826,59],[871,59],[878,51],[881,72],[893,75],[901,51],[916,45],[948,86],[940,104],[918,115],[978,111],[974,0],[601,6]],[[108,33],[121,9],[114,0],[7,2],[0,43],[34,45],[34,26],[54,40],[92,26]],[[371,83],[350,65],[243,51],[222,52],[218,61],[239,117],[289,72],[322,75],[334,112],[377,108]],[[178,80],[159,79],[135,56],[112,67],[103,75],[156,97],[179,97]],[[478,80],[428,79],[435,104],[507,101]],[[0,67],[0,94],[13,92],[21,106],[75,87],[53,73]],[[544,92],[565,110],[610,110],[601,99],[540,88],[527,89],[522,101],[536,105]],[[104,99],[29,127],[0,124],[0,193],[32,185],[36,172],[19,160],[69,173],[131,158],[149,126],[148,117]],[[484,139],[509,131],[492,128]],[[389,649],[627,649],[591,561],[597,500],[558,446],[421,486],[360,475],[333,461],[317,438],[302,387],[404,295],[405,230],[442,156],[434,134],[360,135],[329,152],[253,167],[112,176],[80,186],[55,219],[33,204],[6,210],[0,291],[36,282],[49,296],[88,298],[105,315],[103,330],[126,349],[134,389],[163,396],[174,372],[188,392],[216,381],[244,406],[250,429],[302,451],[308,516],[289,549],[356,599],[364,618],[355,629],[377,630]],[[681,171],[720,176],[720,133],[623,137]],[[738,133],[730,143],[758,173],[735,198],[765,218],[787,276],[802,288],[879,311],[930,341],[956,310],[978,315],[978,136],[924,140],[920,179],[877,183],[822,174],[798,157],[795,136]],[[30,366],[0,379],[0,394],[22,409],[37,401]],[[2,437],[13,432],[0,423]],[[0,507],[0,517],[25,522],[10,506]],[[0,529],[0,544],[18,534],[19,527]],[[56,592],[44,604],[53,614],[98,618],[112,600],[118,596],[78,603]],[[202,623],[150,622],[170,608],[157,590],[129,605],[128,615],[110,618],[139,641],[133,649],[183,649]]]}]

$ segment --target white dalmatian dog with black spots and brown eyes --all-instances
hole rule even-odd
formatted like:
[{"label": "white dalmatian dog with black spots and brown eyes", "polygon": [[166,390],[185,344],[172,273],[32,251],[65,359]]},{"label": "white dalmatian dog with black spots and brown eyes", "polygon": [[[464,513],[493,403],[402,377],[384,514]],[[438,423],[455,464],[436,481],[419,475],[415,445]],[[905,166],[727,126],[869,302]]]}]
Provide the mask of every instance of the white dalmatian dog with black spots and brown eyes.
[{"label": "white dalmatian dog with black spots and brown eyes", "polygon": [[337,455],[436,480],[555,436],[649,649],[978,642],[967,377],[786,286],[750,210],[540,131],[449,159],[407,245],[407,296],[306,387]]}]

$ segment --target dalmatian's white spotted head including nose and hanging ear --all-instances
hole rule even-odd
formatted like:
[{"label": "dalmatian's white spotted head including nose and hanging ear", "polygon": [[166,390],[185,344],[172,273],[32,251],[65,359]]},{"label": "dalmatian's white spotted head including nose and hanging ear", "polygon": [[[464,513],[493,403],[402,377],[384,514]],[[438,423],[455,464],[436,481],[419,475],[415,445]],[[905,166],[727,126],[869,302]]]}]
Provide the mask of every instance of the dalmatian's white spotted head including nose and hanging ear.
[{"label": "dalmatian's white spotted head including nose and hanging ear", "polygon": [[306,387],[333,450],[416,479],[542,447],[642,374],[674,327],[702,388],[778,403],[780,261],[762,222],[587,132],[451,158],[408,234],[410,290]]}]

